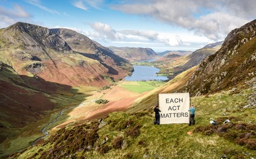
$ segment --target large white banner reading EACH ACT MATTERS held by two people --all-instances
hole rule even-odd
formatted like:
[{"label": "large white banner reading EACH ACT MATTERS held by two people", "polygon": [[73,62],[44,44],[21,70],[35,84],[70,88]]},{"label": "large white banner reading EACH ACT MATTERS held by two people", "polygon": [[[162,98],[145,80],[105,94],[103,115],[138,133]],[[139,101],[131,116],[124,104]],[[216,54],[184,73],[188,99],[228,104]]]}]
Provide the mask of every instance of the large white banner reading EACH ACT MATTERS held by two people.
[{"label": "large white banner reading EACH ACT MATTERS held by two people", "polygon": [[160,124],[189,123],[189,93],[158,94]]}]

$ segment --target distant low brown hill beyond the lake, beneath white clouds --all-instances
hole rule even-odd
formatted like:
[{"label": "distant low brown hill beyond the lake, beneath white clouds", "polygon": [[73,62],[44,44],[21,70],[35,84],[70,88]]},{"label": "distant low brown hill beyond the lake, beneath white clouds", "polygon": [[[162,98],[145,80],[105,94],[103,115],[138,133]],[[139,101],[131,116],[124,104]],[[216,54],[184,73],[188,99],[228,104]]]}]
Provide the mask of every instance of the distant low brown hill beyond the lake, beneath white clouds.
[{"label": "distant low brown hill beyond the lake, beneath white clouds", "polygon": [[141,47],[108,47],[115,52],[116,55],[121,56],[129,61],[153,59],[156,56],[156,52],[151,48]]}]

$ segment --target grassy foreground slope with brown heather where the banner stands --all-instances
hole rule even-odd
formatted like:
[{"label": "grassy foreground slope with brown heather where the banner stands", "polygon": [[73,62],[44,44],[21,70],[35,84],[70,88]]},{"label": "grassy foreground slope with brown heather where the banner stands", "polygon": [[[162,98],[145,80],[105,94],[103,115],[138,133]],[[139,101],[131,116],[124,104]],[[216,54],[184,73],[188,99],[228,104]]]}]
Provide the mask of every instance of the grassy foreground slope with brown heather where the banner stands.
[{"label": "grassy foreground slope with brown heather where the banner stands", "polygon": [[[229,124],[246,123],[254,127],[251,133],[255,134],[255,124],[251,124],[256,122],[255,109],[242,108],[250,94],[251,90],[244,89],[236,94],[222,92],[193,97],[197,109],[196,125],[190,127],[187,124],[154,125],[153,108],[136,113],[114,112],[104,119],[107,125],[103,128],[98,129],[97,122],[66,128],[58,131],[59,134],[50,137],[43,145],[30,147],[13,157],[220,158],[224,154],[228,158],[255,157],[255,150],[234,142],[237,137],[226,138],[223,135],[229,131],[211,135],[195,131],[196,127],[209,126],[210,118],[214,118],[222,120],[220,126],[227,125],[222,124],[226,119],[231,120]],[[193,134],[188,135],[188,131]],[[240,135],[242,131],[236,130],[236,133]],[[253,138],[256,139],[255,135]],[[107,142],[103,143],[106,139]],[[123,141],[127,145],[122,149]],[[86,150],[89,145],[93,146],[92,150]]]}]

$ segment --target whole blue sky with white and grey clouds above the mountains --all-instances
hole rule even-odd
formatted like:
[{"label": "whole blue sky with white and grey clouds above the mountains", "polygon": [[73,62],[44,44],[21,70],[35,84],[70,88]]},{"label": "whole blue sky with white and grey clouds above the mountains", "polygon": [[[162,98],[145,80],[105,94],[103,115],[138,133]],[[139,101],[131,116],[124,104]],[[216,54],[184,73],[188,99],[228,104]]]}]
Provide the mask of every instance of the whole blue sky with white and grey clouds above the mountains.
[{"label": "whole blue sky with white and grey clouds above the mountains", "polygon": [[0,28],[68,28],[105,47],[195,51],[254,20],[255,0],[0,0]]}]

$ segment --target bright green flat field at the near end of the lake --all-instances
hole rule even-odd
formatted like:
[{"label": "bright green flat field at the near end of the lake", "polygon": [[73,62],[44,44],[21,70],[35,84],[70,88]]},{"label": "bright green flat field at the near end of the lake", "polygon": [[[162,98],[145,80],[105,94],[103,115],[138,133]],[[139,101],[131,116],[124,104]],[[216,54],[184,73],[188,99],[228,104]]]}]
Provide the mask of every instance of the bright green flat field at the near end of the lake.
[{"label": "bright green flat field at the near end of the lake", "polygon": [[125,81],[119,86],[131,92],[143,93],[164,84],[162,81]]}]

